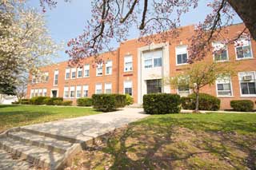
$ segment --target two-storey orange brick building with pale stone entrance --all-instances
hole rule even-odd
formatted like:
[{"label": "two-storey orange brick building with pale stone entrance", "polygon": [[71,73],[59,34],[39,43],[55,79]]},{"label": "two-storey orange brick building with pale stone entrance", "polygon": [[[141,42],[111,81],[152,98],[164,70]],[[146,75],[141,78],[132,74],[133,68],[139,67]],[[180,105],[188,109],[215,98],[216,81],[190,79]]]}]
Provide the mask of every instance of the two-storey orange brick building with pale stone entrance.
[{"label": "two-storey orange brick building with pale stone entrance", "polygon": [[[228,26],[227,38],[233,38],[244,29],[243,24]],[[32,77],[28,85],[27,97],[48,96],[63,97],[76,101],[79,97],[91,97],[94,93],[130,93],[135,103],[142,103],[146,93],[179,93],[186,96],[190,89],[172,89],[162,85],[162,77],[173,77],[187,65],[190,57],[187,51],[188,38],[194,34],[194,26],[179,28],[177,39],[169,42],[146,45],[137,39],[122,42],[117,50],[102,53],[102,65],[94,63],[94,57],[86,58],[82,68],[70,68],[67,61],[42,67],[45,78]],[[223,30],[225,31],[225,29]],[[221,41],[222,39],[220,39]],[[231,100],[249,99],[256,101],[256,42],[239,39],[242,46],[226,46],[220,55],[209,55],[205,60],[239,62],[237,76],[227,80],[218,80],[215,85],[202,89],[221,99],[221,108],[230,108]],[[213,45],[221,45],[213,42]],[[43,81],[42,81],[43,80]]]}]

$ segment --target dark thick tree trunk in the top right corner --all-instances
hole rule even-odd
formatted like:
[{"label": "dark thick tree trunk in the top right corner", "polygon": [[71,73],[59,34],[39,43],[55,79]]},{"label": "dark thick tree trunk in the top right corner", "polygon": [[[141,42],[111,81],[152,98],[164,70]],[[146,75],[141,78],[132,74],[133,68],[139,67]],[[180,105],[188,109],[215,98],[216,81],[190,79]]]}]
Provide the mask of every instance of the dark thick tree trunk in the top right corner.
[{"label": "dark thick tree trunk in the top right corner", "polygon": [[256,40],[256,0],[227,0]]}]

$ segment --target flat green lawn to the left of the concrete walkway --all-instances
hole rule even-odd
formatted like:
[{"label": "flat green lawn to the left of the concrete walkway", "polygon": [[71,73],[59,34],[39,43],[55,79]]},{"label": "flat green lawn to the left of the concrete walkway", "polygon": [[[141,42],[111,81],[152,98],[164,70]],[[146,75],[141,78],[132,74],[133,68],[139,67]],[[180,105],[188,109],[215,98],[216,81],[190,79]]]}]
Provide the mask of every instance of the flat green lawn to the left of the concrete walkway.
[{"label": "flat green lawn to the left of the concrete walkway", "polygon": [[90,108],[46,105],[0,105],[0,132],[7,128],[82,117],[99,112]]}]

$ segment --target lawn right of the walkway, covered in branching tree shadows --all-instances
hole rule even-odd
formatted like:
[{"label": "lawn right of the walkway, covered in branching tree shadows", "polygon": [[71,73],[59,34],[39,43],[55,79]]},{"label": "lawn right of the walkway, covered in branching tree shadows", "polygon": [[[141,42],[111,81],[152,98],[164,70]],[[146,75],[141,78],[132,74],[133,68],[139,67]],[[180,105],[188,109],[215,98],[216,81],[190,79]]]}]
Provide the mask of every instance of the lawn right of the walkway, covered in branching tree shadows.
[{"label": "lawn right of the walkway, covered in branching tree shadows", "polygon": [[66,169],[256,169],[256,114],[154,115],[99,137]]}]

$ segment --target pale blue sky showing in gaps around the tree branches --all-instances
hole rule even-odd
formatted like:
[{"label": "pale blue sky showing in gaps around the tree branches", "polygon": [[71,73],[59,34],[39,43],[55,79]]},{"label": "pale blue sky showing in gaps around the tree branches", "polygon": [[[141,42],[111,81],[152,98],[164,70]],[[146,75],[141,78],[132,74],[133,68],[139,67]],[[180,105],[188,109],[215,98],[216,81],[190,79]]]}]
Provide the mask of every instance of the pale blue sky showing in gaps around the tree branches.
[{"label": "pale blue sky showing in gaps around the tree branches", "polygon": [[[86,25],[86,20],[90,19],[90,2],[91,0],[71,0],[71,2],[64,2],[64,0],[58,0],[56,8],[47,10],[46,23],[50,30],[50,35],[54,41],[60,43],[68,42],[71,38],[76,38],[79,34],[82,34],[82,30]],[[206,14],[210,13],[210,8],[206,6],[211,0],[201,0],[198,8],[182,16],[181,25],[187,26],[190,24],[196,24],[202,22],[206,17]],[[42,10],[39,6],[39,0],[29,0],[27,6]],[[234,23],[241,22],[238,16],[234,19]],[[130,30],[129,38],[138,37],[138,31],[132,28]],[[113,44],[117,46],[117,43]],[[65,50],[65,49],[64,49]],[[58,59],[55,61],[68,60],[68,55],[63,51],[59,51]]]}]

